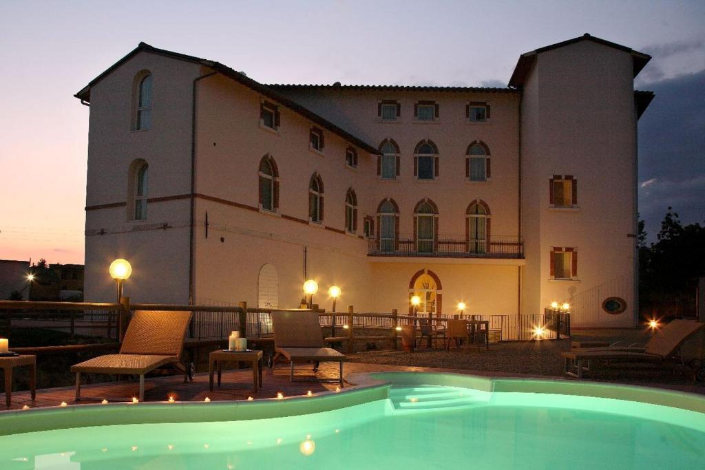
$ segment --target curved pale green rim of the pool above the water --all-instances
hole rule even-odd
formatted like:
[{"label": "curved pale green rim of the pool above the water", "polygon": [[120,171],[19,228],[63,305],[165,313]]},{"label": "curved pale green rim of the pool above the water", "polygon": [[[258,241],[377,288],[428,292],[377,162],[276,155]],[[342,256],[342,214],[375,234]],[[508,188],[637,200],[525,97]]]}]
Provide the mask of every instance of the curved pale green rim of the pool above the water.
[{"label": "curved pale green rim of the pool above the water", "polygon": [[200,421],[243,421],[328,412],[388,398],[392,385],[446,385],[484,392],[523,392],[609,398],[705,414],[700,395],[612,383],[565,379],[496,378],[449,372],[384,371],[348,376],[340,392],[312,396],[213,402],[114,402],[0,412],[0,436],[87,426]]}]

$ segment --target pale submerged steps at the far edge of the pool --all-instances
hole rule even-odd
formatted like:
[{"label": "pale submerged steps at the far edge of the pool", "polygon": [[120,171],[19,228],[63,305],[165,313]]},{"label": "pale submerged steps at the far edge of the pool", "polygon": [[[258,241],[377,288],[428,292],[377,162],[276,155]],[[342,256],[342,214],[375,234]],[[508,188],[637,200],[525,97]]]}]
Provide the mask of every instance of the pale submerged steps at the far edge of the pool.
[{"label": "pale submerged steps at the far edge of the pool", "polygon": [[485,404],[490,394],[467,388],[391,388],[389,400],[395,410],[422,410],[472,407]]}]

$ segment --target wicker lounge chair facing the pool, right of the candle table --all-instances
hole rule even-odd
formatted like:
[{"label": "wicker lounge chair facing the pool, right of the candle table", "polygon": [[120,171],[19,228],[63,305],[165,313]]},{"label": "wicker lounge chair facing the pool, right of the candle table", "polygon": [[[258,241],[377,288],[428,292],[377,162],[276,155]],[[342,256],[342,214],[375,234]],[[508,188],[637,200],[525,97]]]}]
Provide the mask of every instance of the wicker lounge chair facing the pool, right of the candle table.
[{"label": "wicker lounge chair facing the pool, right of the candle table", "polygon": [[[337,362],[339,375],[336,382],[343,386],[343,362],[345,354],[324,347],[321,323],[315,311],[273,311],[271,312],[274,326],[274,360],[284,357],[289,361],[289,380],[294,381],[295,362]],[[329,382],[322,380],[321,382]]]}]

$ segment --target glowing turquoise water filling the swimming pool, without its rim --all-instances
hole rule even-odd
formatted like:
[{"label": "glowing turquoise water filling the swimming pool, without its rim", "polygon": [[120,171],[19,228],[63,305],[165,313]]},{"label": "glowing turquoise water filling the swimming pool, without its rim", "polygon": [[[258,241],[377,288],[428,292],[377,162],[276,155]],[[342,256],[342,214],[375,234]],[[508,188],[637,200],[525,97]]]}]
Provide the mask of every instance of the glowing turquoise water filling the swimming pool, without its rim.
[{"label": "glowing turquoise water filling the swimming pool, without its rim", "polygon": [[6,435],[0,469],[705,468],[697,412],[448,386],[389,396],[283,418]]}]

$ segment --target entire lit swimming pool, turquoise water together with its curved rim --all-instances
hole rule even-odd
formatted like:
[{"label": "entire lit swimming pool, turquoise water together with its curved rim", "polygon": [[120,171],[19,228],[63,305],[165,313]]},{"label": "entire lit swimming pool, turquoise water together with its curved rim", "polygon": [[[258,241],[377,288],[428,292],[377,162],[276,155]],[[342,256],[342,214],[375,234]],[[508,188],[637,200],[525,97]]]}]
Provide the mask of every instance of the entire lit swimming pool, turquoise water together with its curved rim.
[{"label": "entire lit swimming pool, turquoise water together with its curved rim", "polygon": [[[374,378],[358,390],[293,400],[8,412],[0,416],[0,468],[695,469],[705,462],[702,397],[450,374]],[[666,406],[673,404],[682,407]]]}]

